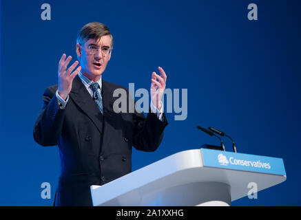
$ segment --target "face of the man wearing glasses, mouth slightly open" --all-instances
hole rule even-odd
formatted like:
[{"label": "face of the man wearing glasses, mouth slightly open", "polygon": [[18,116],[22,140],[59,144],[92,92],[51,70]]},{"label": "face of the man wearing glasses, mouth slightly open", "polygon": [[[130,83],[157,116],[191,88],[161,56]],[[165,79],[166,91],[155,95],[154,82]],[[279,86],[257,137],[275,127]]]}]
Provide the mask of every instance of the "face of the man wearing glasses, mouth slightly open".
[{"label": "face of the man wearing glasses, mouth slightly open", "polygon": [[101,78],[110,61],[111,49],[110,35],[98,40],[89,39],[84,45],[77,43],[76,54],[79,56],[81,73],[94,82]]}]

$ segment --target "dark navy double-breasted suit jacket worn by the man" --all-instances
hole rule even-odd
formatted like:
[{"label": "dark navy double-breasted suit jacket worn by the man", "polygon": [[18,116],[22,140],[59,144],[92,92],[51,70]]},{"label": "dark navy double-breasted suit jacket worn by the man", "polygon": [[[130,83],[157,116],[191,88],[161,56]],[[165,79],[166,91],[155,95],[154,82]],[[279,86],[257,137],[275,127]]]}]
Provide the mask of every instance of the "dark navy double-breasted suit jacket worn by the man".
[{"label": "dark navy double-breasted suit jacket worn by the man", "polygon": [[[103,185],[131,172],[132,146],[155,151],[167,125],[155,113],[114,113],[114,89],[120,85],[102,81],[103,115],[81,82],[74,78],[65,109],[60,109],[57,85],[43,94],[43,107],[34,124],[34,140],[43,146],[59,146],[61,175],[56,206],[92,206],[90,185]],[[127,89],[126,89],[127,91]],[[127,91],[128,95],[128,91]]]}]

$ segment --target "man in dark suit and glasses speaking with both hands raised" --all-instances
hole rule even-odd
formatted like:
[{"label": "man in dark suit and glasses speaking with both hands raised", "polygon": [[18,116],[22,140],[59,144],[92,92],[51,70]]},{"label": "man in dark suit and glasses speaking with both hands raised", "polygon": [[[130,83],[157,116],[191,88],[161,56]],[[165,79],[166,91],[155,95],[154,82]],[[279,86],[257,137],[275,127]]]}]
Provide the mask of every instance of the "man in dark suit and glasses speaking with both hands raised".
[{"label": "man in dark suit and glasses speaking with both hands raised", "polygon": [[132,146],[155,151],[163,138],[167,125],[161,102],[167,78],[164,70],[158,67],[160,76],[152,73],[152,111],[146,118],[136,110],[120,113],[114,107],[119,98],[114,91],[123,89],[129,96],[128,90],[102,79],[112,46],[112,34],[105,25],[85,25],[76,43],[79,61],[67,68],[72,58],[63,54],[59,84],[43,94],[34,140],[43,146],[59,146],[56,206],[92,206],[91,185],[103,185],[130,173]]}]

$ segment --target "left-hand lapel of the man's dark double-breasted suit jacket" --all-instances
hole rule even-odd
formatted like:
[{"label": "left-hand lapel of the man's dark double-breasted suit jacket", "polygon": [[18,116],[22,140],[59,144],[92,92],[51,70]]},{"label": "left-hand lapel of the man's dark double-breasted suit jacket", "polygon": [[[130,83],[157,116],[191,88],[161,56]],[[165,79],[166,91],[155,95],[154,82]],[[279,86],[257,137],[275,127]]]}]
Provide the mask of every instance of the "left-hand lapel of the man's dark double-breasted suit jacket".
[{"label": "left-hand lapel of the man's dark double-breasted suit jacket", "polygon": [[92,120],[98,131],[103,133],[103,115],[101,115],[101,111],[99,111],[79,76],[76,76],[73,80],[70,98]]}]

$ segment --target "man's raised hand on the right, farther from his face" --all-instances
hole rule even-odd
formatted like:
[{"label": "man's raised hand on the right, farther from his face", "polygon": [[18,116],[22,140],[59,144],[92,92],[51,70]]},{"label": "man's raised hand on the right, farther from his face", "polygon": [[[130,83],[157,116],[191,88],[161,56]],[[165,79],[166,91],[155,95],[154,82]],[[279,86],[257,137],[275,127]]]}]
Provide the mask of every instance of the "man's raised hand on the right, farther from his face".
[{"label": "man's raised hand on the right, farther from his face", "polygon": [[[154,106],[161,109],[161,99],[163,97],[167,76],[161,67],[158,67],[160,76],[156,72],[152,73],[151,98]],[[157,81],[158,80],[158,81]]]}]

